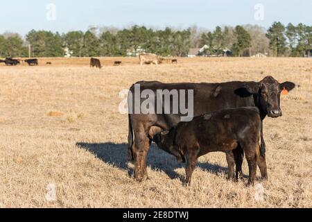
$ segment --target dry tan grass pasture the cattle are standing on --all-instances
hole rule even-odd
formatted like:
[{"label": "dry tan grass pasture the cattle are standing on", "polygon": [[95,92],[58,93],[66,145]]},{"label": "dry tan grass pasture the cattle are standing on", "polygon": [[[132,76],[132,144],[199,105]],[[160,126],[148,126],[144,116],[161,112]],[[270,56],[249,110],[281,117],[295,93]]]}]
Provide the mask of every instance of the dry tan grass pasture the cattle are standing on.
[{"label": "dry tan grass pasture the cattle are standing on", "polygon": [[[123,61],[113,67],[114,60]],[[46,62],[52,65],[46,65]],[[40,59],[38,67],[0,65],[0,207],[312,207],[312,59],[195,58],[138,65],[137,58]],[[226,180],[225,154],[200,158],[193,184],[184,165],[150,148],[150,180],[126,163],[128,116],[121,89],[137,80],[224,82],[272,75],[299,88],[281,99],[284,116],[266,119],[269,180],[255,188]],[[246,161],[243,171],[248,175]],[[259,173],[258,173],[259,175]],[[46,200],[56,186],[55,201]]]}]

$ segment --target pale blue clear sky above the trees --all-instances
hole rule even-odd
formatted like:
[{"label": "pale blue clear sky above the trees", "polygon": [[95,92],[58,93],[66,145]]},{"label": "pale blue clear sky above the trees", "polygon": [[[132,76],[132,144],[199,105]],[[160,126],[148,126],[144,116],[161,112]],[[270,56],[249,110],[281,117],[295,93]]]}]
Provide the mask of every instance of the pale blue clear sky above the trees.
[{"label": "pale blue clear sky above the trees", "polygon": [[[5,2],[5,3],[4,3]],[[56,6],[56,19],[46,19],[46,6]],[[263,20],[254,19],[257,3]],[[15,0],[0,6],[0,33],[25,35],[31,29],[67,32],[86,31],[89,26],[139,24],[163,28],[186,28],[194,24],[212,29],[217,25],[259,24],[274,21],[312,25],[311,0]]]}]

